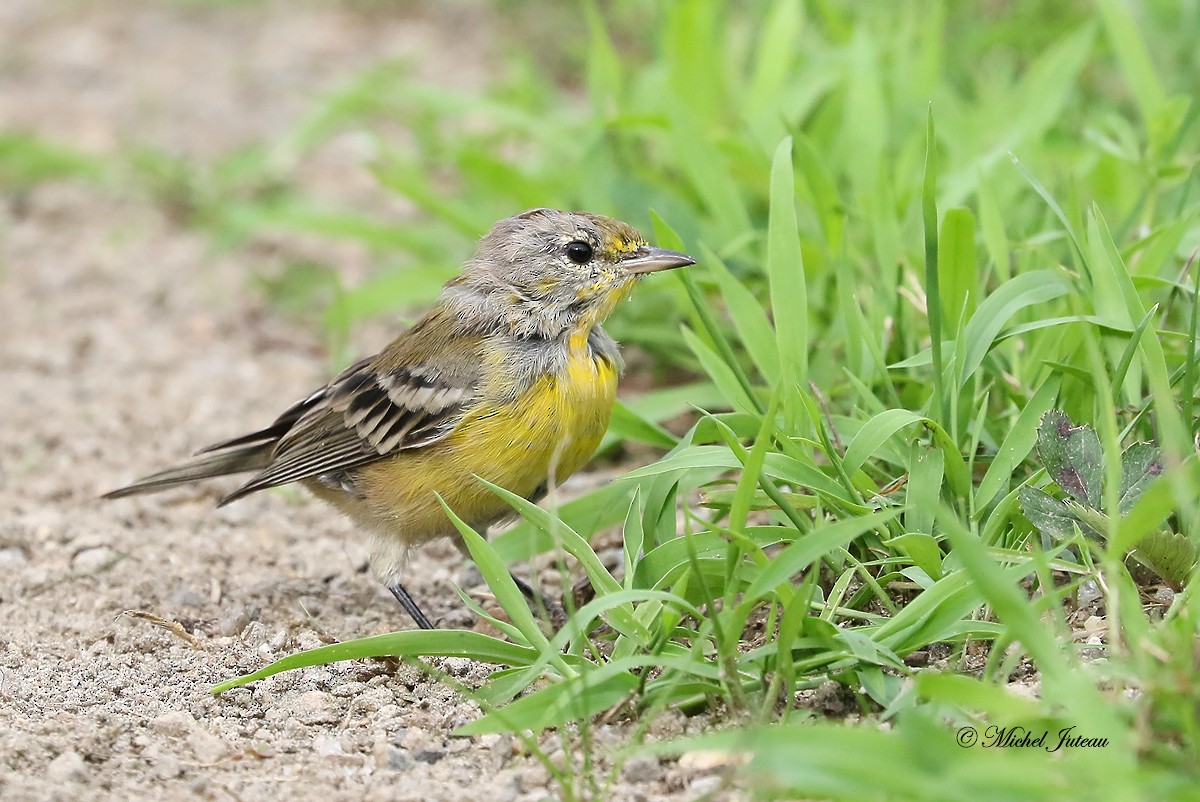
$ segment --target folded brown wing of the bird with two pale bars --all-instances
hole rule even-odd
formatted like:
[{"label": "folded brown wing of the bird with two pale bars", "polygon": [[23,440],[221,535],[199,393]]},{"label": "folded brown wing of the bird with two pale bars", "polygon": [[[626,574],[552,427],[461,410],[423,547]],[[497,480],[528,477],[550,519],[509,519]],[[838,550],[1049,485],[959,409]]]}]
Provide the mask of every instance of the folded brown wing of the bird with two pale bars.
[{"label": "folded brown wing of the bird with two pale bars", "polygon": [[479,395],[484,337],[426,317],[352,365],[268,429],[215,448],[278,438],[266,467],[222,504],[264,487],[347,471],[445,437]]}]

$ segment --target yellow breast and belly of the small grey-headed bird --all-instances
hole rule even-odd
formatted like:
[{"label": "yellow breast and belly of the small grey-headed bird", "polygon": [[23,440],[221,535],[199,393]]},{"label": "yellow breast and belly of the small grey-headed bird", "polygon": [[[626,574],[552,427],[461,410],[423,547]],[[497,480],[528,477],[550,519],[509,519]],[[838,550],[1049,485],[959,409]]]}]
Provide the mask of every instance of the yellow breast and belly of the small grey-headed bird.
[{"label": "yellow breast and belly of the small grey-headed bird", "polygon": [[514,401],[481,401],[445,439],[364,466],[359,481],[377,528],[408,541],[450,534],[434,493],[486,527],[511,508],[475,475],[528,497],[581,468],[608,429],[617,366],[592,352],[586,334],[568,346],[564,367]]}]

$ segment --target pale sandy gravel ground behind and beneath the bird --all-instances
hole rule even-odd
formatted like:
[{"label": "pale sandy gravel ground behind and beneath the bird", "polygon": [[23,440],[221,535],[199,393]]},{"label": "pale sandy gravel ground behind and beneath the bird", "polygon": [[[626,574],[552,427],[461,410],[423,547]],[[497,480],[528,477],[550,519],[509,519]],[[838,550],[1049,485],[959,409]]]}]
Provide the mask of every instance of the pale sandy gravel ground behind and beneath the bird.
[{"label": "pale sandy gravel ground behind and beneath the bird", "polygon": [[[472,5],[463,25],[464,8],[4,0],[0,130],[98,155],[140,143],[215,158],[281,136],[379,59],[442,84],[484,80],[488,23]],[[353,143],[296,169],[314,191],[404,214]],[[343,251],[322,256],[349,275],[370,267]],[[410,626],[332,510],[299,492],[217,510],[220,483],[98,501],[324,381],[314,327],[245,292],[271,258],[215,255],[136,192],[0,196],[0,798],[558,798],[511,738],[450,737],[476,707],[413,668],[347,663],[210,695],[319,633]],[[373,348],[380,334],[358,336]],[[470,571],[454,549],[426,550],[410,576],[432,617],[470,626],[452,591]],[[127,610],[180,622],[194,642]],[[442,668],[468,683],[490,670]],[[697,726],[668,714],[652,732]],[[613,750],[629,736],[596,734]],[[634,758],[607,798],[736,798],[707,766]]]}]

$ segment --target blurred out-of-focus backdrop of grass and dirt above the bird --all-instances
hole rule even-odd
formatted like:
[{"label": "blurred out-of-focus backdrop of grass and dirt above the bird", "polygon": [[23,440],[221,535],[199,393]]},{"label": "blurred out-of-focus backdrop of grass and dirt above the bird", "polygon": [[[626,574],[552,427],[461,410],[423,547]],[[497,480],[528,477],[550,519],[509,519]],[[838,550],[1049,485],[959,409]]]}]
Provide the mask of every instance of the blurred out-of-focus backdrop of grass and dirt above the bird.
[{"label": "blurred out-of-focus backdrop of grass and dirt above the bird", "polygon": [[[967,209],[977,234],[959,307],[1069,258],[1013,157],[1068,214],[1094,203],[1118,244],[1144,250],[1156,213],[1195,190],[1198,13],[1115,0],[12,0],[0,190],[82,180],[160,204],[214,249],[246,249],[245,289],[320,321],[337,363],[353,324],[427,304],[492,221],[532,205],[647,232],[656,214],[757,292],[770,158],[790,134],[812,323],[836,328],[851,292],[868,327],[895,333],[881,340],[895,357],[923,336],[895,289],[923,259],[926,115],[940,208]],[[1184,222],[1157,247],[1184,251],[1195,231]],[[648,286],[656,298],[623,307],[614,329],[689,371],[682,292]],[[817,359],[812,378],[840,367]]]}]

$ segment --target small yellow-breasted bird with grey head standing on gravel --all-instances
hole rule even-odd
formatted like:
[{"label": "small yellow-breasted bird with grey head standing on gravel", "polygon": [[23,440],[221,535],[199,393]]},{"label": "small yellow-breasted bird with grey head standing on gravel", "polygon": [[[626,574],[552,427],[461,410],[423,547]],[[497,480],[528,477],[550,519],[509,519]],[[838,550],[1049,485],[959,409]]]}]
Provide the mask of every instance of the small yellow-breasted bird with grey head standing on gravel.
[{"label": "small yellow-breasted bird with grey head standing on gravel", "polygon": [[482,533],[511,508],[475,477],[538,501],[582,467],[623,366],[601,322],[640,276],[690,264],[600,215],[530,209],[502,220],[433,310],[378,354],[266,429],[104,497],[256,472],[228,504],[300,481],[371,532],[374,574],[432,629],[401,574],[410,546],[457,535],[436,493]]}]

